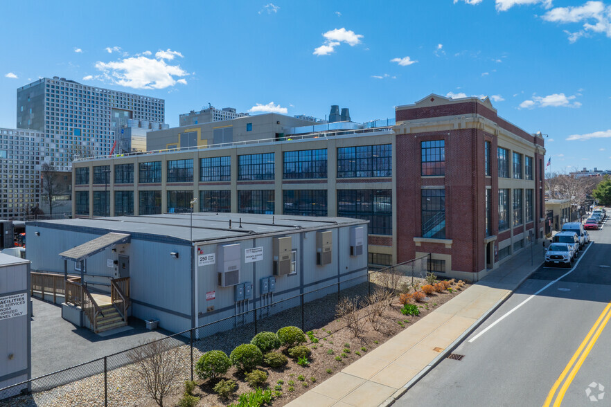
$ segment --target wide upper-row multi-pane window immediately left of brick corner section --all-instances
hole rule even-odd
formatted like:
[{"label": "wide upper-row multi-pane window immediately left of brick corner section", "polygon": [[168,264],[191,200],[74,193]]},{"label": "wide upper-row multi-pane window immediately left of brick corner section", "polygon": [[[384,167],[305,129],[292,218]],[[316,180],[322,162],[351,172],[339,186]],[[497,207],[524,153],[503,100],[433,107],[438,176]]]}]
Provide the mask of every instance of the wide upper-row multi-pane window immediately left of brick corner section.
[{"label": "wide upper-row multi-pane window immediately left of brick corner section", "polygon": [[392,145],[337,149],[337,178],[391,177]]}]

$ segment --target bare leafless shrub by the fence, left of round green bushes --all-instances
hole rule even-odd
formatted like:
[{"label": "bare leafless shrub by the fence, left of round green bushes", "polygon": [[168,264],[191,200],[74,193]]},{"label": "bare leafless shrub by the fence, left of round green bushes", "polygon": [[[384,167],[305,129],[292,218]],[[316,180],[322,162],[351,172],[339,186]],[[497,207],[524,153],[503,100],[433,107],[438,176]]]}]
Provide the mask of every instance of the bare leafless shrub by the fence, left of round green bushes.
[{"label": "bare leafless shrub by the fence, left of round green bushes", "polygon": [[130,369],[141,379],[140,386],[163,407],[183,363],[178,348],[168,341],[147,341],[127,352],[127,357],[132,362]]}]

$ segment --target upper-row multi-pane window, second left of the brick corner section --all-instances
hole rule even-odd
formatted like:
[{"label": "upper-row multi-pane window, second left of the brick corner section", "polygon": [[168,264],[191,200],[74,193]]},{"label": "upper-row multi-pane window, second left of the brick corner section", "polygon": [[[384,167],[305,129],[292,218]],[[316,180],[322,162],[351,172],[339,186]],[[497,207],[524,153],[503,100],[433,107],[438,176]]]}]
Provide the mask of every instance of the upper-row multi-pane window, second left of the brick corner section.
[{"label": "upper-row multi-pane window, second left of the brick corner section", "polygon": [[327,150],[284,152],[283,179],[310,179],[327,177]]}]

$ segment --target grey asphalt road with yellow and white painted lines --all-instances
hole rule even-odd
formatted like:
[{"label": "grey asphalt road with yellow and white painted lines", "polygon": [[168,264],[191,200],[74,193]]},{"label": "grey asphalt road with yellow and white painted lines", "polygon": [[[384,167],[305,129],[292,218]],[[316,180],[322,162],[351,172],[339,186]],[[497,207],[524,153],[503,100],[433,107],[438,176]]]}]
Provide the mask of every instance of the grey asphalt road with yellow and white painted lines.
[{"label": "grey asphalt road with yellow and white painted lines", "polygon": [[611,406],[611,221],[590,236],[573,271],[535,271],[395,405]]}]

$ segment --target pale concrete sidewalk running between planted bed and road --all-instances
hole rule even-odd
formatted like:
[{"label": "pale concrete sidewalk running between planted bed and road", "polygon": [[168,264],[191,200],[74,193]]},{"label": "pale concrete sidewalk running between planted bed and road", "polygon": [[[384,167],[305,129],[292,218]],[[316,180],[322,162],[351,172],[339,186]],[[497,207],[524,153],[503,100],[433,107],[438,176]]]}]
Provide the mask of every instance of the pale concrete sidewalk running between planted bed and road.
[{"label": "pale concrete sidewalk running between planted bed and road", "polygon": [[542,245],[535,244],[532,253],[531,259],[531,247],[527,246],[459,296],[287,406],[389,406],[447,357],[542,264]]}]

